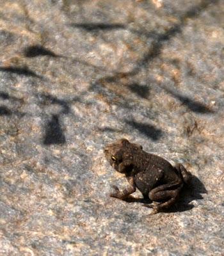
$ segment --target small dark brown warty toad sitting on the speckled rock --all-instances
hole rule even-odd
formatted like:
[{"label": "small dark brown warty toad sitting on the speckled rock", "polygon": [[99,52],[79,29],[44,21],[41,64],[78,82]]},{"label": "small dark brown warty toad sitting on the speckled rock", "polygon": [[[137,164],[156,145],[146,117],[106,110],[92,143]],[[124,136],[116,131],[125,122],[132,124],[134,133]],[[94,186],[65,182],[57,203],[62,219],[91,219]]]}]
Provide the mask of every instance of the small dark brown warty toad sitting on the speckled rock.
[{"label": "small dark brown warty toad sitting on the speckled rock", "polygon": [[148,154],[141,145],[121,139],[107,145],[104,149],[106,158],[117,172],[125,173],[129,188],[120,191],[116,186],[111,196],[125,199],[138,188],[145,199],[153,204],[153,213],[174,204],[184,184],[191,178],[182,164],[173,167],[162,157]]}]

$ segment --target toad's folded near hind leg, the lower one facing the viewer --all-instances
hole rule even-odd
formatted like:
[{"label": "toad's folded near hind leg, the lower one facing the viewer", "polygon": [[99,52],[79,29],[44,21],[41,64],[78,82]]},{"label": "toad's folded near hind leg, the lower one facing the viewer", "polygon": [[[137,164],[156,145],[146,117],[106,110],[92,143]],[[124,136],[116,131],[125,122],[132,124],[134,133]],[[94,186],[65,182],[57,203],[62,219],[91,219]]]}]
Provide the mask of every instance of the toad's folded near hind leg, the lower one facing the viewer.
[{"label": "toad's folded near hind leg, the lower one facing the viewer", "polygon": [[160,212],[161,210],[170,207],[173,205],[180,193],[180,189],[182,189],[181,183],[173,183],[173,184],[164,184],[154,188],[149,193],[149,198],[152,201],[161,202],[155,205],[153,213]]}]

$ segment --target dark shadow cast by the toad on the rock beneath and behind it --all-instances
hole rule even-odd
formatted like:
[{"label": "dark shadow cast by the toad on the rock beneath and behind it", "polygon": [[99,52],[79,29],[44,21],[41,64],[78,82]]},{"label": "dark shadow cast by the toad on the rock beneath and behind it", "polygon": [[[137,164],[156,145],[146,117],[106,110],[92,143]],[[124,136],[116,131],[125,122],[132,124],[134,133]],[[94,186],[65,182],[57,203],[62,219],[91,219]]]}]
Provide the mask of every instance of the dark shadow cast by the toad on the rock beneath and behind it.
[{"label": "dark shadow cast by the toad on the rock beneath and behind it", "polygon": [[[202,194],[207,194],[204,184],[195,176],[192,175],[191,182],[188,186],[182,189],[179,200],[172,205],[169,209],[164,210],[163,212],[184,212],[192,209],[193,204],[190,204],[193,200],[203,199]],[[150,200],[145,200],[143,198],[134,198],[129,196],[125,199],[127,203],[139,202],[144,204],[146,207],[147,204],[150,204]]]}]

